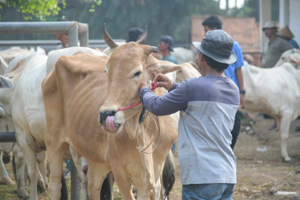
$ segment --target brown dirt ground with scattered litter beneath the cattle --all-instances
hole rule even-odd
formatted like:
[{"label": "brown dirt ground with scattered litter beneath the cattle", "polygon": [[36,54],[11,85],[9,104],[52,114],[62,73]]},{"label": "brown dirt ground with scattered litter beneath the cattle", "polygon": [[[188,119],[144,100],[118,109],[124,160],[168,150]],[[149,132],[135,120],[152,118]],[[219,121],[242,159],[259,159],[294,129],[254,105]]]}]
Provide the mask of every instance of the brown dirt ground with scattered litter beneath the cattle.
[{"label": "brown dirt ground with scattered litter beneath the cattle", "polygon": [[[251,121],[253,123],[250,123]],[[272,123],[273,119],[264,119],[262,115],[258,115],[253,120],[242,119],[241,131],[234,148],[237,184],[232,199],[300,200],[300,132],[294,130],[296,125],[300,124],[300,119],[293,121],[290,127],[287,146],[289,156],[292,158],[291,163],[282,162],[279,132],[267,130]],[[257,148],[265,148],[266,151],[260,152]],[[170,193],[170,200],[181,199],[182,185],[177,151],[175,163],[176,182]],[[15,181],[11,163],[5,164],[5,167],[9,171],[10,178]],[[68,185],[70,189],[70,183]],[[16,186],[0,185],[0,199],[18,199],[13,192],[15,188]],[[295,192],[298,195],[278,195],[277,191]],[[47,192],[39,194],[38,199],[49,199]],[[122,199],[116,185],[114,199]]]}]

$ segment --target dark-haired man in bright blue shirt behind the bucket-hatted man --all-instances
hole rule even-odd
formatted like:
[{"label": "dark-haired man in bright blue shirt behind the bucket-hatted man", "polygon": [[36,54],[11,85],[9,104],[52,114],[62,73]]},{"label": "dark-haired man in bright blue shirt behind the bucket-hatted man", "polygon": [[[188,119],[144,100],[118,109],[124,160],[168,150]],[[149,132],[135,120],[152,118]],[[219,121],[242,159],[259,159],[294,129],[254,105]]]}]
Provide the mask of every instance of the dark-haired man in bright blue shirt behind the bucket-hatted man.
[{"label": "dark-haired man in bright blue shirt behind the bucket-hatted man", "polygon": [[[222,21],[216,15],[211,15],[208,18],[204,19],[202,25],[204,26],[205,33],[211,30],[222,29]],[[244,58],[243,58],[241,46],[239,45],[238,42],[234,41],[232,51],[235,53],[237,59],[234,63],[229,64],[228,68],[225,70],[225,76],[229,77],[235,83],[235,85],[238,86],[240,92],[241,108],[244,108],[245,106],[244,95],[246,91],[244,90],[243,72],[241,69],[241,67],[244,65]],[[241,121],[237,111],[235,114],[234,126],[231,131],[232,142],[230,147],[232,149],[235,145],[236,139],[238,138],[240,128],[241,128]]]}]

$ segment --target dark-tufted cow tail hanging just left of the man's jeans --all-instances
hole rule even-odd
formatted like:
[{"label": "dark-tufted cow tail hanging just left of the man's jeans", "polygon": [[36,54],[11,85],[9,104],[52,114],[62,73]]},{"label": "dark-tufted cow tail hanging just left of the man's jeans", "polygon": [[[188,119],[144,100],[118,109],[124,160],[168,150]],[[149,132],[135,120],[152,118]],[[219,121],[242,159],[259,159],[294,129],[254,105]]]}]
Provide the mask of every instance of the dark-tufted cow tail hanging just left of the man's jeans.
[{"label": "dark-tufted cow tail hanging just left of the man's jeans", "polygon": [[169,199],[169,193],[173,188],[175,183],[175,163],[174,163],[174,156],[172,151],[169,151],[165,166],[163,169],[163,188],[165,190],[164,196]]}]

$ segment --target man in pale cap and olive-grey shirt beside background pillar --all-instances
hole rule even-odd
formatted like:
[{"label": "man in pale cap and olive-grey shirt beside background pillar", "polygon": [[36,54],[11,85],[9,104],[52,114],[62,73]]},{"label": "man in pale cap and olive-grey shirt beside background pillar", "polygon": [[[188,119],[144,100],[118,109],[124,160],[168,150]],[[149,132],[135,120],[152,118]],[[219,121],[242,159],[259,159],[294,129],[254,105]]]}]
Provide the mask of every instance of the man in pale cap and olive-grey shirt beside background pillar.
[{"label": "man in pale cap and olive-grey shirt beside background pillar", "polygon": [[269,38],[268,49],[265,52],[265,64],[263,67],[271,68],[274,67],[279,60],[281,54],[293,46],[290,45],[286,40],[276,36],[277,27],[274,21],[268,21],[262,27],[265,32],[265,36]]}]

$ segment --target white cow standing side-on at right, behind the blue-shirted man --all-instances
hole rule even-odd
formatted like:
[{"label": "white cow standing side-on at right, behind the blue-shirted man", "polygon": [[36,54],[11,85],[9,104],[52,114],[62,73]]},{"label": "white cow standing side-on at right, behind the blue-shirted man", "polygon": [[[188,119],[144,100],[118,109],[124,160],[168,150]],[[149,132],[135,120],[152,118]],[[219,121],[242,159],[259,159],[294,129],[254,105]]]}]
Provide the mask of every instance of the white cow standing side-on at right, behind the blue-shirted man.
[{"label": "white cow standing side-on at right, behind the blue-shirted man", "polygon": [[292,64],[260,68],[244,62],[245,111],[250,118],[265,113],[276,119],[281,136],[281,155],[290,162],[286,140],[292,120],[300,115],[300,70]]}]

